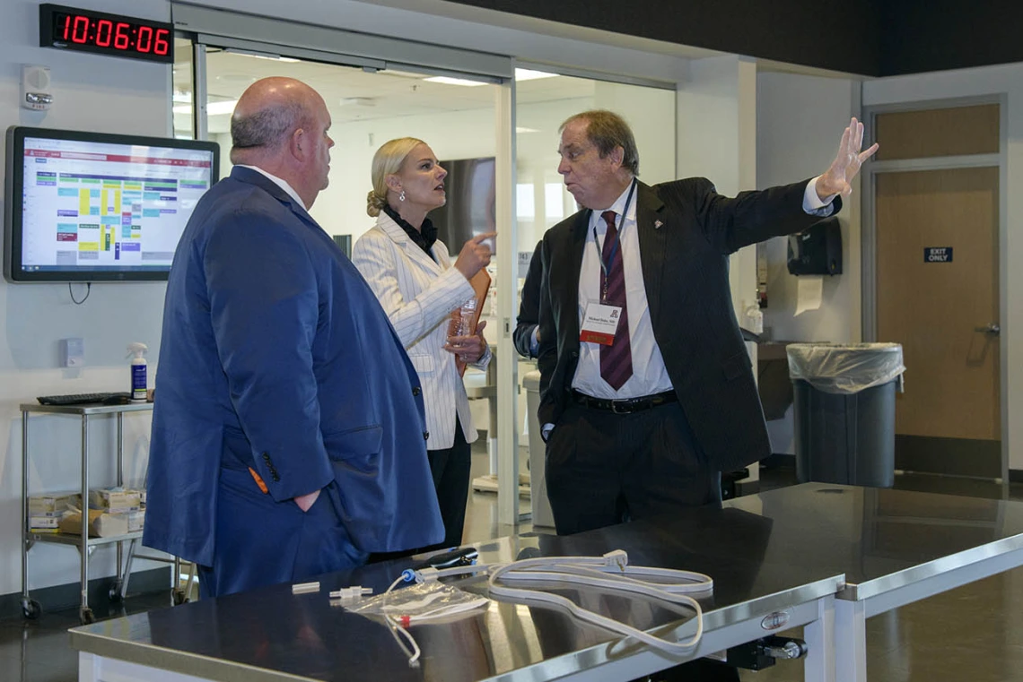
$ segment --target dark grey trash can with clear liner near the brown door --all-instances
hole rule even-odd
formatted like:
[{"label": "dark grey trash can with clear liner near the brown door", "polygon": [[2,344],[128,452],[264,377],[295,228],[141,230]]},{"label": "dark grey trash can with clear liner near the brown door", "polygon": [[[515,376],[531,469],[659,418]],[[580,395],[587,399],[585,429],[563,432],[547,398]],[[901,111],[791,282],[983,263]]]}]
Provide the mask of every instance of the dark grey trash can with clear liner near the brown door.
[{"label": "dark grey trash can with clear liner near the brown door", "polygon": [[800,483],[890,488],[902,346],[793,343],[787,352]]}]

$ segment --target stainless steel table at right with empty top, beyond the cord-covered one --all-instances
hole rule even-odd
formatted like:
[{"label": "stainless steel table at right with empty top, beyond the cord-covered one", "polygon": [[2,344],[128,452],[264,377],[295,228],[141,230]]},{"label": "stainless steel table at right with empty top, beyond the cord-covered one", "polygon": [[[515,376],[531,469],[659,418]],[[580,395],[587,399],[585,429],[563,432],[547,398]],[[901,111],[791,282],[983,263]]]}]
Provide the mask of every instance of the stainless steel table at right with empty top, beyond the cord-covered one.
[{"label": "stainless steel table at right with empty top, beyond the cord-covered one", "polygon": [[1023,502],[807,483],[727,505],[773,522],[765,561],[845,574],[839,680],[866,680],[868,618],[1023,565]]}]

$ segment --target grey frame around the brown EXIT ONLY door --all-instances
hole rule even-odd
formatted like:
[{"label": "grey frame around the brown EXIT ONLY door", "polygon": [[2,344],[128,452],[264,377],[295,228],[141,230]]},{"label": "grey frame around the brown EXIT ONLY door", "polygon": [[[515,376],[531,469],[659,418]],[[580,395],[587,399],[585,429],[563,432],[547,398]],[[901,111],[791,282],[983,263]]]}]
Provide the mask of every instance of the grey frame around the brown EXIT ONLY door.
[{"label": "grey frame around the brown EXIT ONLY door", "polygon": [[998,325],[1002,327],[998,343],[998,402],[1002,422],[1002,478],[999,483],[1009,482],[1009,344],[1004,340],[1009,335],[1007,277],[1008,261],[1008,213],[1009,193],[1009,96],[995,93],[977,97],[957,97],[921,101],[897,102],[863,107],[864,141],[873,142],[876,137],[876,119],[880,113],[894,111],[922,111],[977,104],[998,105],[998,152],[995,154],[970,154],[960,156],[933,156],[920,159],[872,160],[863,166],[861,207],[861,305],[863,341],[877,341],[877,225],[875,217],[877,197],[877,175],[908,170],[945,170],[949,168],[998,168]]}]

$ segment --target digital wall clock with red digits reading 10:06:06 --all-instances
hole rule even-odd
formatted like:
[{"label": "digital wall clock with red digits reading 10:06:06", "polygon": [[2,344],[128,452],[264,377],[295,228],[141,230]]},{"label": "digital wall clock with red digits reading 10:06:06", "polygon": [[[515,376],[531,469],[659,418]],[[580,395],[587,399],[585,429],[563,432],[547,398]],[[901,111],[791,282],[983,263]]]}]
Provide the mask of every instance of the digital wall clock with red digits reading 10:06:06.
[{"label": "digital wall clock with red digits reading 10:06:06", "polygon": [[61,5],[39,6],[39,44],[174,62],[174,28],[170,23]]}]

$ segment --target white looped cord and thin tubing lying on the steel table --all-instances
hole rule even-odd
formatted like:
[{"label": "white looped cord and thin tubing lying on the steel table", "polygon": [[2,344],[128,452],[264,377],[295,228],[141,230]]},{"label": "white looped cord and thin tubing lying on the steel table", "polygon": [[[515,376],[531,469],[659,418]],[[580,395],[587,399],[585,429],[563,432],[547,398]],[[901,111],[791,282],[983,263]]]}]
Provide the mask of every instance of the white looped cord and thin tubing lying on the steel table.
[{"label": "white looped cord and thin tubing lying on the steel table", "polygon": [[[491,566],[476,565],[455,567],[451,569],[422,571],[405,571],[401,577],[391,584],[385,594],[390,593],[401,582],[428,582],[442,577],[459,576],[488,572],[487,587],[493,598],[503,598],[509,601],[538,601],[554,604],[567,610],[576,618],[599,628],[620,634],[626,638],[635,639],[649,646],[680,655],[690,653],[699,644],[703,636],[703,610],[691,594],[708,593],[714,588],[714,581],[702,573],[660,569],[644,566],[628,566],[628,555],[621,549],[608,552],[604,556],[547,556],[539,558],[520,559],[510,564],[495,564]],[[644,580],[642,578],[651,580]],[[559,594],[551,594],[539,589],[508,587],[500,584],[515,581],[544,581],[547,583],[579,584],[587,587],[597,587],[611,592],[628,592],[663,602],[668,608],[679,613],[695,612],[697,631],[687,640],[670,641],[663,637],[649,634],[601,614],[583,608],[571,599]],[[415,638],[407,628],[413,623],[429,622],[456,613],[471,611],[475,605],[439,606],[416,616],[402,616],[400,622],[390,615],[385,619],[394,633],[395,639],[409,655],[408,664],[418,666],[419,647]],[[401,634],[411,644],[411,649],[405,646],[398,637]]]}]

